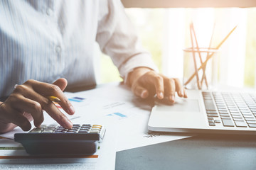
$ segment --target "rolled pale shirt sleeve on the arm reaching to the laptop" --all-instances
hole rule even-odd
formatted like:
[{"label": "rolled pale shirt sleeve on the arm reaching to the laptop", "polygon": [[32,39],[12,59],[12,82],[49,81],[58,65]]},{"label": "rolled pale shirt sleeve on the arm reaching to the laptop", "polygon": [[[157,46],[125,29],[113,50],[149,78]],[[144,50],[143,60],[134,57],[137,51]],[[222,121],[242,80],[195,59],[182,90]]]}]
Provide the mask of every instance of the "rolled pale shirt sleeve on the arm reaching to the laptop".
[{"label": "rolled pale shirt sleeve on the arm reaching to the laptop", "polygon": [[139,42],[121,1],[101,1],[99,13],[96,40],[102,52],[112,58],[124,82],[136,67],[149,67],[158,72],[151,55]]}]

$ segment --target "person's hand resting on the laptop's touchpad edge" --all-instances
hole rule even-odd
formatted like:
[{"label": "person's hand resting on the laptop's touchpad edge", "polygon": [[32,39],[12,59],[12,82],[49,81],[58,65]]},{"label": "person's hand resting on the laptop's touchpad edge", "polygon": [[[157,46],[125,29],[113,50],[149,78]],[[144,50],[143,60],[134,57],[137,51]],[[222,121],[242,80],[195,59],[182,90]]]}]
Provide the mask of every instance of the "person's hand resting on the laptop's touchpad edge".
[{"label": "person's hand resting on the laptop's touchpad edge", "polygon": [[154,72],[146,67],[137,67],[128,76],[128,84],[132,86],[135,96],[148,98],[157,96],[159,99],[168,98],[175,102],[175,93],[187,98],[185,89],[178,79],[170,79],[163,74]]}]

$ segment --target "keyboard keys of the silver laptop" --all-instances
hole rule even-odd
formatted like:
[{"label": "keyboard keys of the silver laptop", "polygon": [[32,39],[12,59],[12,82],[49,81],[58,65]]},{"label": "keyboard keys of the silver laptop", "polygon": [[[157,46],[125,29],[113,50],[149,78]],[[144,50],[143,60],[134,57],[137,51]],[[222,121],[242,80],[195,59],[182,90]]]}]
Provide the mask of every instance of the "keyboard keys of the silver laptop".
[{"label": "keyboard keys of the silver laptop", "polygon": [[256,94],[202,92],[210,126],[256,128]]}]

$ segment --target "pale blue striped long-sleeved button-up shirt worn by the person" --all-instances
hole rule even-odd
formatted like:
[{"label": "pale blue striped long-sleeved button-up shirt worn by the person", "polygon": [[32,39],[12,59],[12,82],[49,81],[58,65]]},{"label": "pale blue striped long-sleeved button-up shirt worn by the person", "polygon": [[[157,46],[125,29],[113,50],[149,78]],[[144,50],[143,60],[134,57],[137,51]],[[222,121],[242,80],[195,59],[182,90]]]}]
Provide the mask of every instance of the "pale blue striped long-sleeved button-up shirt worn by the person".
[{"label": "pale blue striped long-sleeved button-up shirt worn by the person", "polygon": [[135,67],[156,69],[119,0],[0,1],[0,96],[28,79],[95,84],[96,43],[124,79]]}]

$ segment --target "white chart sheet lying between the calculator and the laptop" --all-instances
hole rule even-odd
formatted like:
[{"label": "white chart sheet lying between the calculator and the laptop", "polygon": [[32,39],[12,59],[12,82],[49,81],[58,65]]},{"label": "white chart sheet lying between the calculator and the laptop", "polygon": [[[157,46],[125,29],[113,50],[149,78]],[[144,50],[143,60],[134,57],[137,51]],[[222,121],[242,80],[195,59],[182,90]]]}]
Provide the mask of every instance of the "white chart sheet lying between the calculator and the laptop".
[{"label": "white chart sheet lying between the calculator and the laptop", "polygon": [[[76,105],[81,120],[97,120],[116,133],[116,151],[153,145],[160,142],[179,140],[188,136],[150,132],[147,123],[154,100],[145,101],[132,94],[124,85],[67,94],[68,98],[86,98],[86,105]],[[75,116],[75,115],[73,115]],[[69,117],[72,118],[72,117]],[[76,122],[76,120],[73,120]]]}]

